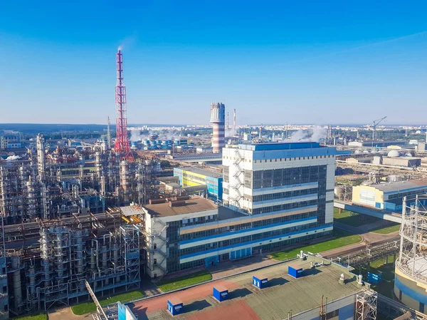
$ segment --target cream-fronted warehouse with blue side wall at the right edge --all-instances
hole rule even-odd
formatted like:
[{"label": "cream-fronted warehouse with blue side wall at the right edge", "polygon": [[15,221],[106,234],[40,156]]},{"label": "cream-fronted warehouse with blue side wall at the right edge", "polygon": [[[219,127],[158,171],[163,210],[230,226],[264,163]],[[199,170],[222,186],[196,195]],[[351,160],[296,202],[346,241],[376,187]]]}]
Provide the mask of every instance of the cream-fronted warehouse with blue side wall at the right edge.
[{"label": "cream-fronted warehouse with blue side wall at the right edge", "polygon": [[416,195],[427,193],[427,179],[396,181],[378,185],[353,187],[352,202],[394,212],[402,209],[402,200],[414,200]]}]

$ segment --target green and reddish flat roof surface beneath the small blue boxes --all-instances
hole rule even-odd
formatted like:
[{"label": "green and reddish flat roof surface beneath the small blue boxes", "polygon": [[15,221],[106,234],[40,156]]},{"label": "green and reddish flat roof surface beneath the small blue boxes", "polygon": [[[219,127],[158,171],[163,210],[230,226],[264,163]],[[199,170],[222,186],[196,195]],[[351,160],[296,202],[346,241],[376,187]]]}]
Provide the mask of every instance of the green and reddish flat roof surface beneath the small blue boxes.
[{"label": "green and reddish flat roof surface beneath the small blue boxes", "polygon": [[[285,319],[288,312],[297,314],[320,307],[322,296],[328,301],[336,301],[361,291],[357,287],[354,274],[336,264],[310,269],[310,261],[321,262],[310,257],[305,261],[295,260],[265,267],[262,272],[268,278],[268,287],[258,289],[252,285],[252,277],[258,272],[247,272],[234,277],[200,284],[199,286],[164,294],[152,299],[136,301],[132,312],[138,319],[171,319],[167,311],[167,300],[173,296],[184,303],[179,319],[239,320],[239,319]],[[294,279],[288,275],[288,266],[301,267],[304,276]],[[339,284],[339,276],[344,274],[346,283]],[[213,288],[223,286],[228,289],[228,300],[218,302],[213,297]]]}]

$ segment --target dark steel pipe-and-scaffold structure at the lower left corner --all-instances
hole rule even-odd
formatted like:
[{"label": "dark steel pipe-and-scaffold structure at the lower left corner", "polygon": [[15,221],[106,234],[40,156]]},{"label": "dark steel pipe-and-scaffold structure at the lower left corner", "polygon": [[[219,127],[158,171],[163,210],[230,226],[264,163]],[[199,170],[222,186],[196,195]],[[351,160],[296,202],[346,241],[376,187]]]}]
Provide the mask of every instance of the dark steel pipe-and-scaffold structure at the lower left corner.
[{"label": "dark steel pipe-and-scaffold structure at the lower left corner", "polygon": [[138,288],[139,230],[123,223],[120,211],[110,210],[5,226],[8,246],[19,248],[6,249],[12,314],[87,301],[86,281],[100,296]]}]

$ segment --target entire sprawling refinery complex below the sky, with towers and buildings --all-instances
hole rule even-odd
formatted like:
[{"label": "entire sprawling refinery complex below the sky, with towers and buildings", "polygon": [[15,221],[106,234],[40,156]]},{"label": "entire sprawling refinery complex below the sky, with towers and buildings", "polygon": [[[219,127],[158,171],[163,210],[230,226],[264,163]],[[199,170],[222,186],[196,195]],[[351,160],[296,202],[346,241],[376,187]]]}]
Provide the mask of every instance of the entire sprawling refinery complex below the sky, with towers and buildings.
[{"label": "entire sprawling refinery complex below the sky, with towers and buildings", "polygon": [[[120,50],[116,66],[114,129],[0,133],[0,319],[87,301],[100,320],[427,319],[422,128],[237,125],[209,101],[209,125],[128,128]],[[342,232],[361,238],[310,252]],[[362,275],[377,259],[393,259],[388,291]],[[144,298],[99,304],[132,290]]]}]

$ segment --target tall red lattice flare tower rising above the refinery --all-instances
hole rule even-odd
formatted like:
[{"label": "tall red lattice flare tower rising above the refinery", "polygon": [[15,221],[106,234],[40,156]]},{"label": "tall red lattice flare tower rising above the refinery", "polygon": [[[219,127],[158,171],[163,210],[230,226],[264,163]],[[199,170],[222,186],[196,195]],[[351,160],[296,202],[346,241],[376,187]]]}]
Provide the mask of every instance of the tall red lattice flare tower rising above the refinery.
[{"label": "tall red lattice flare tower rising above the refinery", "polygon": [[115,151],[120,154],[120,159],[133,160],[130,150],[129,138],[127,138],[126,118],[126,86],[123,83],[123,54],[119,49],[116,53],[117,85],[116,91],[116,142]]}]

